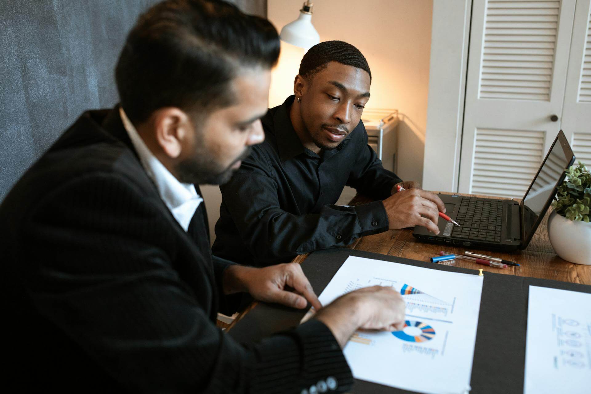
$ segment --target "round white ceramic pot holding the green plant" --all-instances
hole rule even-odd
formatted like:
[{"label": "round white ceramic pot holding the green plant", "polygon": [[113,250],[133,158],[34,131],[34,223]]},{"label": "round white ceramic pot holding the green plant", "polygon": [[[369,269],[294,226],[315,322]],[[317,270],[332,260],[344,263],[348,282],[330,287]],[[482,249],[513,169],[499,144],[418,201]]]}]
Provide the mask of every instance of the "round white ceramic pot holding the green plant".
[{"label": "round white ceramic pot holding the green plant", "polygon": [[564,260],[591,265],[591,222],[573,222],[553,211],[548,217],[548,238]]}]

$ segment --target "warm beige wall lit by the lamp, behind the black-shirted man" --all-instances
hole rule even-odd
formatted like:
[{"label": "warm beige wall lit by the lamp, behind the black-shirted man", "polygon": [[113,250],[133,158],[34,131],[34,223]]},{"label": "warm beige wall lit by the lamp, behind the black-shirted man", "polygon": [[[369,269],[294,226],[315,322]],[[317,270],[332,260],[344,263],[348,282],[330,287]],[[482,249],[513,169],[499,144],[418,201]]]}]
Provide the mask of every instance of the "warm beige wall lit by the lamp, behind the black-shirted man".
[{"label": "warm beige wall lit by the lamp, behind the black-shirted man", "polygon": [[[267,17],[280,31],[297,18],[302,3],[268,0]],[[433,0],[318,0],[313,11],[312,23],[321,41],[347,41],[367,58],[372,70],[372,97],[367,108],[400,111],[397,172],[405,180],[421,181]],[[273,75],[270,106],[292,94],[293,78],[303,56],[303,51],[291,45],[282,45],[282,50]]]}]

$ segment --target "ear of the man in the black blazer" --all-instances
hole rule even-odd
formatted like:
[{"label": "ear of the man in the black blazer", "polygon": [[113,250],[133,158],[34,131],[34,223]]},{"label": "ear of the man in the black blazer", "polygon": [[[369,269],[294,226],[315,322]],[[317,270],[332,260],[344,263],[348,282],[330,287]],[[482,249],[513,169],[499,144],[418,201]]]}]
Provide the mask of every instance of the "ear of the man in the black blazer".
[{"label": "ear of the man in the black blazer", "polygon": [[170,107],[160,108],[154,112],[156,141],[168,157],[176,159],[187,145],[193,126],[187,113]]}]

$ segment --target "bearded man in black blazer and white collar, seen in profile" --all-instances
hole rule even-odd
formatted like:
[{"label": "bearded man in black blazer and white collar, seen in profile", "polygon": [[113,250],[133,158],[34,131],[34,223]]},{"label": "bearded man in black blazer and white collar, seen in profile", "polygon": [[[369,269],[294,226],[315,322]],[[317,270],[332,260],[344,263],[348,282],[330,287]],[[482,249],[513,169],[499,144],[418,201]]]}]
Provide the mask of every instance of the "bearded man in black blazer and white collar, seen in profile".
[{"label": "bearded man in black blazer and white collar, seen in profile", "polygon": [[[294,263],[212,258],[197,184],[228,180],[263,141],[278,53],[268,21],[225,2],[168,0],[139,18],[116,66],[121,105],[83,113],[0,206],[13,391],[345,392],[351,334],[401,329],[393,289],[322,308]],[[319,311],[239,344],[215,321],[245,293]]]}]

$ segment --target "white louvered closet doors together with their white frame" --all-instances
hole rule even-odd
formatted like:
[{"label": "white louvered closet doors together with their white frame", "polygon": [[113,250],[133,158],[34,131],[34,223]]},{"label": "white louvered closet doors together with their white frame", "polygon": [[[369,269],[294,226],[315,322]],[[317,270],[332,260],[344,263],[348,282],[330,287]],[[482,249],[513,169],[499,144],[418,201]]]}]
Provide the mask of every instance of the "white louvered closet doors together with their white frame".
[{"label": "white louvered closet doors together with their white frame", "polygon": [[590,0],[434,2],[426,188],[522,197],[560,129],[591,165],[590,19]]}]

